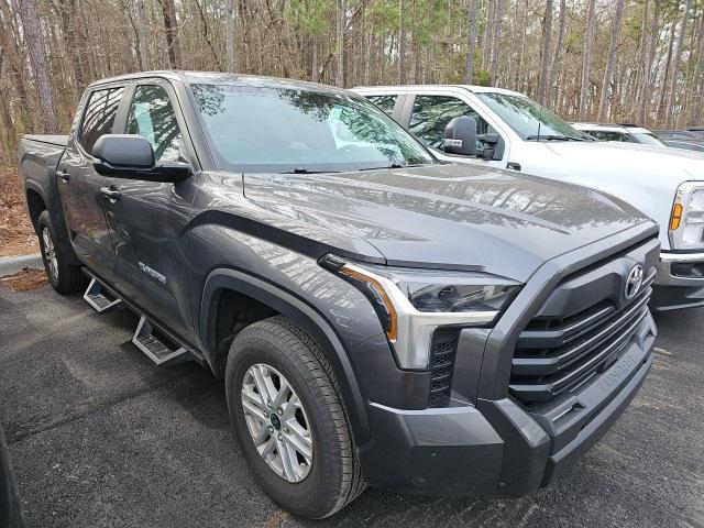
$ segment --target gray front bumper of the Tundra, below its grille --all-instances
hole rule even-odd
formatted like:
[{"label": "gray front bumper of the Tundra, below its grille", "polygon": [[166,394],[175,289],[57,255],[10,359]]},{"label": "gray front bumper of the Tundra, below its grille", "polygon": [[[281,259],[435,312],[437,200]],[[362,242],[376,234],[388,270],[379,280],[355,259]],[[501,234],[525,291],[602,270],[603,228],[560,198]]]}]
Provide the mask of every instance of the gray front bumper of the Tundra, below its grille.
[{"label": "gray front bumper of the Tundra, below its grille", "polygon": [[374,440],[360,450],[372,485],[426,495],[521,496],[582,457],[638,392],[653,361],[651,316],[618,360],[556,405],[530,411],[512,398],[402,410],[370,403]]}]

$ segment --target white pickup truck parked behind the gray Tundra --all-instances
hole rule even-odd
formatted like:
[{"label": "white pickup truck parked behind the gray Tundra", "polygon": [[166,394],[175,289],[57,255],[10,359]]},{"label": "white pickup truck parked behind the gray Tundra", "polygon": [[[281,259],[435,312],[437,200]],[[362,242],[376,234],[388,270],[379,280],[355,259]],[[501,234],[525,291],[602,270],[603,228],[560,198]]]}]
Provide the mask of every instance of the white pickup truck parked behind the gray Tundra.
[{"label": "white pickup truck parked behind the gray Tundra", "polygon": [[[661,227],[653,310],[704,306],[704,153],[592,141],[528,97],[501,88],[383,86],[353,91],[442,161],[571,182],[637,207]],[[465,142],[464,150],[446,148],[446,128],[459,117],[476,124],[476,141]]]}]

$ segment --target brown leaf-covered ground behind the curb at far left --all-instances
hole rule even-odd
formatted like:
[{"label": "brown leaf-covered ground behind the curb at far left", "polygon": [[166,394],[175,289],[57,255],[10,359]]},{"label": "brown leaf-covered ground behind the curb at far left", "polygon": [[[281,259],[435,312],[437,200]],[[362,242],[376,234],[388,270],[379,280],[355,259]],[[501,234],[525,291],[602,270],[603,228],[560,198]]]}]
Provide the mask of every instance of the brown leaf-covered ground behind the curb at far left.
[{"label": "brown leaf-covered ground behind the curb at far left", "polygon": [[36,234],[24,209],[14,169],[0,169],[0,257],[38,253]]}]

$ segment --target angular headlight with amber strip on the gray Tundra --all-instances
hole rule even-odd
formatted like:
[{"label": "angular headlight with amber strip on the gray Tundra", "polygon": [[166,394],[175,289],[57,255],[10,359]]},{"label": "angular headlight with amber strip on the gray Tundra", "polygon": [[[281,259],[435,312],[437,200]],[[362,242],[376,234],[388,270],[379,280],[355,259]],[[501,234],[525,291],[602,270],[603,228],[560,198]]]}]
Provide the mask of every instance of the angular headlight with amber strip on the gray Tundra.
[{"label": "angular headlight with amber strip on the gray Tundra", "polygon": [[484,273],[376,266],[337,255],[323,256],[320,265],[372,301],[404,369],[428,367],[438,327],[493,324],[521,286]]}]

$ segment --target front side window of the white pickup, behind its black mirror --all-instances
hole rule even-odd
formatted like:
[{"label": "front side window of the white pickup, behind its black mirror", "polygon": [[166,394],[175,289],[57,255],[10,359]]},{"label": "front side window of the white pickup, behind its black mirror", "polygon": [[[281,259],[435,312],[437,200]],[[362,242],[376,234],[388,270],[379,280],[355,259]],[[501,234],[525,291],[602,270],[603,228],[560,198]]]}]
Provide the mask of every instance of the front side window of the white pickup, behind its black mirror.
[{"label": "front side window of the white pickup, behind its black mirror", "polygon": [[[462,116],[474,118],[477,134],[488,132],[488,123],[479,113],[457,97],[449,96],[416,96],[408,130],[426,145],[442,150],[446,127]],[[476,148],[482,152],[483,143],[477,141]]]}]

